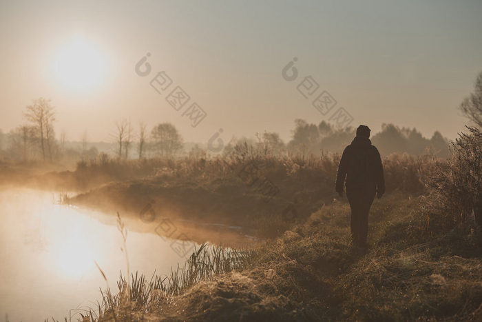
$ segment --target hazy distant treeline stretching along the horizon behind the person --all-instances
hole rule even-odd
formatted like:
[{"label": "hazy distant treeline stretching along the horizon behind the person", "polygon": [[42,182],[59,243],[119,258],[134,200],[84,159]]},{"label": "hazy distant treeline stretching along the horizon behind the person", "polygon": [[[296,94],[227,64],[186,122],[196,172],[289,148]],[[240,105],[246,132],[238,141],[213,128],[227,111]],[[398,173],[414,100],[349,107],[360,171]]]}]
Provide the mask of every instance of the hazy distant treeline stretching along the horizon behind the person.
[{"label": "hazy distant treeline stretching along the horizon behind the person", "polygon": [[[430,154],[439,158],[449,156],[448,140],[440,132],[434,132],[430,139],[415,128],[399,128],[393,124],[383,124],[381,132],[372,135],[371,140],[377,146],[382,156],[392,153],[407,153],[411,155]],[[83,141],[67,142],[65,135],[59,139],[50,136],[43,138],[42,148],[39,128],[32,125],[21,125],[4,134],[0,130],[0,156],[11,161],[78,161],[93,159],[99,154],[110,154],[121,159],[142,159],[151,157],[180,157],[189,155],[196,158],[214,155],[205,143],[186,143],[174,125],[160,123],[150,132],[145,126],[140,136],[129,130],[128,136],[116,132],[110,143],[88,142],[84,135]],[[52,127],[53,132],[53,127]],[[127,139],[128,137],[128,139]],[[265,154],[314,154],[326,152],[342,152],[346,145],[355,137],[355,128],[335,128],[322,121],[318,125],[304,120],[295,120],[291,141],[285,143],[275,132],[257,133],[255,137],[240,139],[232,138],[224,146],[222,154],[227,155],[236,145],[252,145],[262,149]],[[45,148],[49,146],[50,149]],[[46,150],[46,152],[43,152]],[[134,153],[132,153],[134,152]],[[45,155],[45,157],[44,157]]]}]

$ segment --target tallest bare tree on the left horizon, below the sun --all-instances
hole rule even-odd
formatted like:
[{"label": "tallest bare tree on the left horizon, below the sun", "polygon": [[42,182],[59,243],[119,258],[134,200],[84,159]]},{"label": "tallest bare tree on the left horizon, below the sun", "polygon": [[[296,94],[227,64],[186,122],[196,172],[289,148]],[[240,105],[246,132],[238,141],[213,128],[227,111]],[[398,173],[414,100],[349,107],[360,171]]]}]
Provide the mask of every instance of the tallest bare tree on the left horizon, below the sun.
[{"label": "tallest bare tree on the left horizon, below the sun", "polygon": [[45,140],[47,140],[48,151],[52,159],[52,152],[50,148],[50,140],[53,138],[54,128],[52,122],[55,121],[55,112],[50,99],[43,99],[42,97],[34,100],[33,105],[27,106],[25,118],[33,123],[37,134],[39,135],[40,148],[42,158],[45,161]]}]

